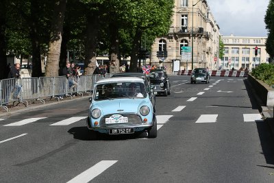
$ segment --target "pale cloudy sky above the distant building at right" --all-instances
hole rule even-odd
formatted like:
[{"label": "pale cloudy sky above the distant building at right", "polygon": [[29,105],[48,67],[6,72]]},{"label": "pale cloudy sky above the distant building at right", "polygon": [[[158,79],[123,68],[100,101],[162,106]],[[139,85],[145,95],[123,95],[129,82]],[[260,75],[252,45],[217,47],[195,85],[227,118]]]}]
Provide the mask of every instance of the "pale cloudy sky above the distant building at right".
[{"label": "pale cloudy sky above the distant building at right", "polygon": [[223,36],[267,36],[264,16],[269,0],[207,0]]}]

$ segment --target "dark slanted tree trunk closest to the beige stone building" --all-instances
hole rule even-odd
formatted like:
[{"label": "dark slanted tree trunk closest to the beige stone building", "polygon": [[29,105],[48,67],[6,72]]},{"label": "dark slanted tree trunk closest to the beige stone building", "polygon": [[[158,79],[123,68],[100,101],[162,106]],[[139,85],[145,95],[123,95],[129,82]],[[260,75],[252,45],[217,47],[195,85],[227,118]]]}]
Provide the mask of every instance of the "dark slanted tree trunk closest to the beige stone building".
[{"label": "dark slanted tree trunk closest to the beige stone building", "polygon": [[130,65],[129,65],[129,71],[136,72],[138,71],[138,51],[140,47],[140,39],[142,37],[142,32],[137,29],[134,40],[132,43],[132,53],[131,53],[131,60],[130,60]]}]

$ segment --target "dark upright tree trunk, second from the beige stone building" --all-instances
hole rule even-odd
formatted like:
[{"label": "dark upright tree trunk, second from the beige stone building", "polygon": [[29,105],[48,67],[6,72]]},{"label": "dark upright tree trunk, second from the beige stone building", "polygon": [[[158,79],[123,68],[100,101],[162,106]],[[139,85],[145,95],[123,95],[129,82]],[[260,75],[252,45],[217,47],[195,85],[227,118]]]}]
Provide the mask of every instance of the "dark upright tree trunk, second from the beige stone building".
[{"label": "dark upright tree trunk, second from the beige stone building", "polygon": [[110,60],[115,60],[117,70],[119,70],[119,27],[115,23],[110,23]]}]

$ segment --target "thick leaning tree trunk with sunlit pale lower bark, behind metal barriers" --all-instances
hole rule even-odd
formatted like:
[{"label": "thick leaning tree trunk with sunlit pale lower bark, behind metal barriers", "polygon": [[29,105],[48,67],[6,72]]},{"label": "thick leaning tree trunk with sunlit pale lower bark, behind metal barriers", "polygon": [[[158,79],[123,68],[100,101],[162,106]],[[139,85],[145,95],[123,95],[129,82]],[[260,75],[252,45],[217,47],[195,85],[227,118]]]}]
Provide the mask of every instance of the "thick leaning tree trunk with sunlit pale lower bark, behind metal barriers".
[{"label": "thick leaning tree trunk with sunlit pale lower bark, behind metal barriers", "polygon": [[45,76],[47,77],[58,75],[65,10],[66,0],[56,0],[53,19],[51,21],[51,37],[49,40],[49,52],[45,69]]}]

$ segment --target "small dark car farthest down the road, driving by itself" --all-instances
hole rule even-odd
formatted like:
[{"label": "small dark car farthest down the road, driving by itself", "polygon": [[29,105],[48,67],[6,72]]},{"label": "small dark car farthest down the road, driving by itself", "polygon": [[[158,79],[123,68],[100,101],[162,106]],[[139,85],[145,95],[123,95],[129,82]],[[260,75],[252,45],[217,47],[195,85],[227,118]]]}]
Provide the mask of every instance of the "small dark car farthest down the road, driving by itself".
[{"label": "small dark car farthest down the road, driving by itself", "polygon": [[210,83],[210,73],[206,68],[196,68],[192,71],[190,83],[205,82]]}]

